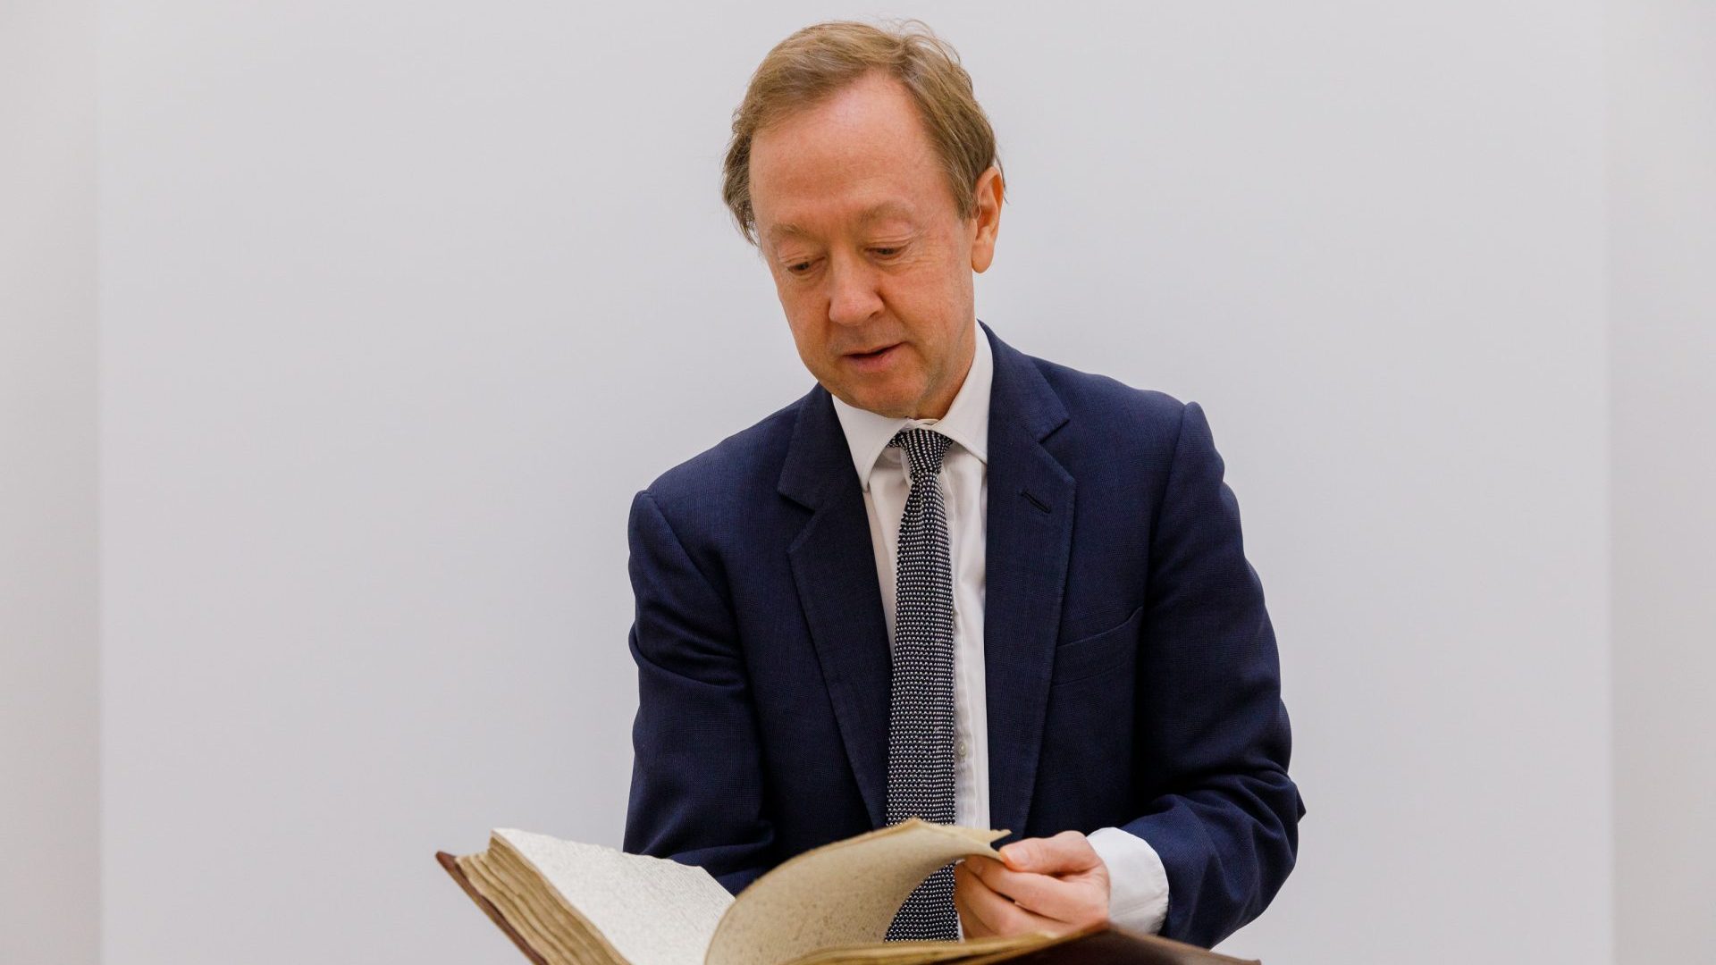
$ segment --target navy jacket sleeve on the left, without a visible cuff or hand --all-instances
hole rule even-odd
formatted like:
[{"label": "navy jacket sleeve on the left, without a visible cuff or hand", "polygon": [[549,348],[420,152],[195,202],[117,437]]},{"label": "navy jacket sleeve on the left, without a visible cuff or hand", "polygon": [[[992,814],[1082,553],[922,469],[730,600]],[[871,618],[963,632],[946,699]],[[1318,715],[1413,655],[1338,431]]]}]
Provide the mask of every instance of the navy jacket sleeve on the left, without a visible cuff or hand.
[{"label": "navy jacket sleeve on the left, without a visible cuff or hand", "polygon": [[774,829],[733,610],[647,489],[628,531],[638,711],[625,850],[700,865],[736,895],[774,864]]}]

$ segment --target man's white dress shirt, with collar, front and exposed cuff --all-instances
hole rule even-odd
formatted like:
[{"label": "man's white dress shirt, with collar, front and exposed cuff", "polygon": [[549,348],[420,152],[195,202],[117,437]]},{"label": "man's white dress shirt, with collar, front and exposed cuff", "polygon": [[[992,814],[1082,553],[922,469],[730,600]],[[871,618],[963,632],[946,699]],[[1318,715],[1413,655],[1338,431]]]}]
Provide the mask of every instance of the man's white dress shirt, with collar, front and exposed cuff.
[{"label": "man's white dress shirt, with collar, front and exposed cuff", "polygon": [[[846,433],[853,469],[863,486],[889,646],[894,640],[894,556],[911,481],[901,450],[887,443],[899,429],[918,426],[952,440],[942,458],[939,482],[947,510],[954,579],[954,821],[968,828],[988,828],[983,546],[988,525],[988,390],[995,361],[975,318],[971,328],[976,331],[971,367],[940,419],[891,419],[839,398],[834,398],[834,414]],[[1115,774],[1115,780],[1126,780],[1126,774]],[[1169,910],[1169,876],[1155,848],[1119,828],[1091,833],[1090,843],[1109,865],[1109,919],[1148,934],[1162,931]]]}]

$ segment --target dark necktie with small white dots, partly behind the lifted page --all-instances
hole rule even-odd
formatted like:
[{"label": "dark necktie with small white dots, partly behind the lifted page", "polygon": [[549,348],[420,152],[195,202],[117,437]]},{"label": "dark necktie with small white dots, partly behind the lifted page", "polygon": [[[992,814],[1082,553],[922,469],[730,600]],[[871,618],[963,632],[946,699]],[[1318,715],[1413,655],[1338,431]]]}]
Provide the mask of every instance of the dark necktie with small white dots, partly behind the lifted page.
[{"label": "dark necktie with small white dots, partly behind the lifted page", "polygon": [[[887,822],[954,822],[954,580],[937,476],[951,440],[901,429],[911,491],[899,520],[894,668],[887,716]],[[958,939],[954,865],[930,874],[887,929],[892,939]]]}]

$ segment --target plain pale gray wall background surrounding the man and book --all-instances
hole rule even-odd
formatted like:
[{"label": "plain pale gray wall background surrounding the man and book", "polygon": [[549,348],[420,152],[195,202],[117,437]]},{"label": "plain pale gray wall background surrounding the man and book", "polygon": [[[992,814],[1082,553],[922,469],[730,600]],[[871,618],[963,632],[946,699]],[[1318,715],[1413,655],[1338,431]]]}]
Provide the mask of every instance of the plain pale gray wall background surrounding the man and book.
[{"label": "plain pale gray wall background surrounding the man and book", "polygon": [[880,14],[978,316],[1227,458],[1309,814],[1222,950],[1716,956],[1709,5],[3,0],[0,960],[517,958],[431,855],[619,841],[630,496],[810,386],[729,113]]}]

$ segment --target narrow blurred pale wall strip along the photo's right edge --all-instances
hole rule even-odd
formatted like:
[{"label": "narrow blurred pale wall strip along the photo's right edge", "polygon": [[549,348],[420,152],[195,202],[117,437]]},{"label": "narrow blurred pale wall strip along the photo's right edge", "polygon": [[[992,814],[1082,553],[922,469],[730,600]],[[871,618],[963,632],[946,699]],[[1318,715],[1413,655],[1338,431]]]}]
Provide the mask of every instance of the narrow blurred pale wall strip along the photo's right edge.
[{"label": "narrow blurred pale wall strip along the photo's right edge", "polygon": [[1608,60],[1616,962],[1716,962],[1716,7]]}]

